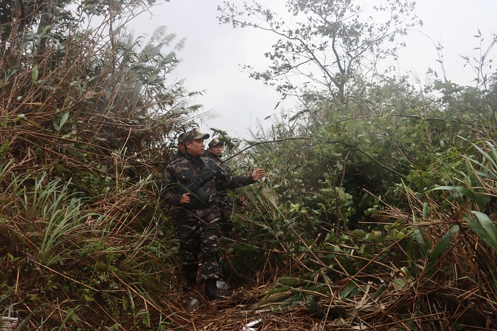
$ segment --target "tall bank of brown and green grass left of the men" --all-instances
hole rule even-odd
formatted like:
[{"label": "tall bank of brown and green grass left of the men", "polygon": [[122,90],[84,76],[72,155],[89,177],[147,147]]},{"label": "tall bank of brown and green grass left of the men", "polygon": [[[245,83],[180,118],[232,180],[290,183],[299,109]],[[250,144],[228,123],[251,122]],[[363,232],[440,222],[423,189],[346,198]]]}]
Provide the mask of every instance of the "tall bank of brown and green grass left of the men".
[{"label": "tall bank of brown and green grass left of the men", "polygon": [[41,33],[29,8],[2,30],[0,288],[25,327],[159,330],[183,313],[160,171],[200,106],[169,77],[183,42],[126,31],[150,3],[59,1]]}]

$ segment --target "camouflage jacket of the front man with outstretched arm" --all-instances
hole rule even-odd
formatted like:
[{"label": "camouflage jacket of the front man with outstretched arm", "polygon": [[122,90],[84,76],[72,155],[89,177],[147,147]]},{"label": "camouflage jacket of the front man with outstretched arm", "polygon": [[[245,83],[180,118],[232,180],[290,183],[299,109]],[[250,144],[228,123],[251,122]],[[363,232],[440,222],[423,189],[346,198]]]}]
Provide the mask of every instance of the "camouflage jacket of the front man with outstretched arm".
[{"label": "camouflage jacket of the front man with outstretched arm", "polygon": [[[254,183],[251,174],[233,176],[231,172],[223,169],[217,162],[208,157],[193,157],[185,153],[184,158],[179,158],[169,163],[162,174],[163,185],[166,188],[164,199],[166,203],[179,206],[181,196],[187,193],[185,187],[201,177],[214,173],[215,177],[202,186],[202,190],[209,196],[209,202],[216,203],[219,199],[218,189],[236,189]],[[193,203],[190,203],[193,205]],[[195,209],[185,205],[187,209]]]}]

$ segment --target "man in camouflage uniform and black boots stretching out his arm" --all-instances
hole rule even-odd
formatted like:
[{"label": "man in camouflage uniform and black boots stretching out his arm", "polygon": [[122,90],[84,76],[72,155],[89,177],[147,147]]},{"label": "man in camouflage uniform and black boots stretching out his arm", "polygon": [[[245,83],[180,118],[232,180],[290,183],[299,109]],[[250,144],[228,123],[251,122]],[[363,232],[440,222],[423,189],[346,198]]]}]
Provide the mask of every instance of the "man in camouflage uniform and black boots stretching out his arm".
[{"label": "man in camouflage uniform and black boots stretching out his arm", "polygon": [[[216,206],[216,187],[235,189],[249,185],[265,176],[263,169],[251,175],[232,176],[212,159],[202,157],[204,139],[209,134],[194,129],[184,135],[185,156],[169,163],[163,172],[164,195],[168,204],[181,206],[177,217],[177,235],[182,271],[187,286],[196,283],[199,269],[199,253],[202,253],[200,280],[205,283],[209,300],[219,298],[216,280],[219,278],[218,243],[221,237],[219,219],[221,213]],[[214,175],[213,178],[210,178]],[[209,179],[210,178],[210,179]],[[201,190],[192,192],[187,187],[198,184],[199,179],[209,179]]]}]

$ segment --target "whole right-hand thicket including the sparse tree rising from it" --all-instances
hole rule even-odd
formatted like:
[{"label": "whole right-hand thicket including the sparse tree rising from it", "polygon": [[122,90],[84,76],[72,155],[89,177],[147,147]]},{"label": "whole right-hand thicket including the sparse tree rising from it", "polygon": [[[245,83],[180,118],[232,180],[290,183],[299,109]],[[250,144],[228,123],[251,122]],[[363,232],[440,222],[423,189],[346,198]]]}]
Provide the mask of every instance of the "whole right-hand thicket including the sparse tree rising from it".
[{"label": "whole right-hand thicket including the sparse tree rising from it", "polygon": [[[295,24],[256,2],[220,9],[221,22],[277,38],[270,68],[246,69],[302,102],[253,137],[279,143],[252,149],[269,175],[238,231],[256,243],[233,254],[273,280],[263,306],[305,310],[317,330],[492,329],[496,35],[478,31],[479,56],[463,57],[474,86],[451,82],[441,56],[441,77],[429,69],[426,84],[367,80],[367,60],[392,54],[371,31],[393,42],[402,26],[361,29],[354,1],[286,3]],[[413,9],[396,4],[392,17]]]}]

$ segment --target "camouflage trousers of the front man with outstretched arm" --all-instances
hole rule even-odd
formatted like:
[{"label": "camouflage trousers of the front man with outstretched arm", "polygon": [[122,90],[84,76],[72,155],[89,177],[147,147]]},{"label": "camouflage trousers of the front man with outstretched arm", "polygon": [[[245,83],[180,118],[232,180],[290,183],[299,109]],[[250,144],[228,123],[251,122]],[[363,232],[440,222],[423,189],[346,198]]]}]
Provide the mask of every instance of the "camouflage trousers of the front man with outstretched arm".
[{"label": "camouflage trousers of the front man with outstretched arm", "polygon": [[177,218],[176,234],[180,243],[181,270],[187,280],[196,279],[199,269],[200,280],[219,278],[220,217],[219,210],[211,207],[183,210]]}]

